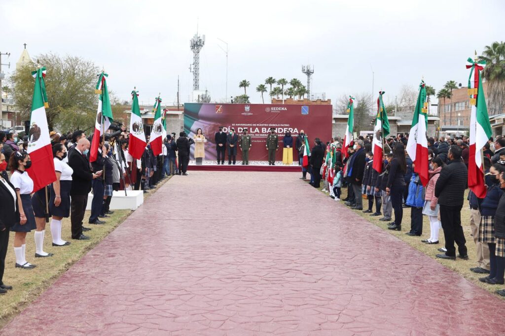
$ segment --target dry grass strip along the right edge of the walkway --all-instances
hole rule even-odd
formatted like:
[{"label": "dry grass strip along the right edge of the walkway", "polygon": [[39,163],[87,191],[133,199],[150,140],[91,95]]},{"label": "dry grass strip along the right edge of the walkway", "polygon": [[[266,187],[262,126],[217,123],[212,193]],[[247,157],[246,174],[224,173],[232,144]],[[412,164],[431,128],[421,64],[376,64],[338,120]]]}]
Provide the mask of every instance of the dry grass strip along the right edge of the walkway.
[{"label": "dry grass strip along the right edge of the walkway", "polygon": [[[321,188],[323,184],[321,183]],[[347,197],[347,188],[341,188],[342,190],[342,195],[341,198]],[[322,192],[322,191],[321,191]],[[468,190],[465,192],[465,200],[467,199],[468,196]],[[326,194],[326,193],[325,193]],[[326,194],[328,195],[328,194]],[[329,197],[329,196],[328,196]],[[342,205],[344,204],[343,201],[340,201]],[[345,205],[344,205],[345,206]],[[366,209],[368,207],[368,200],[363,200],[363,207]],[[382,216],[370,216],[369,213],[363,213],[362,210],[351,210],[354,211],[360,216],[362,216],[365,220],[369,221],[370,223],[373,223],[374,225],[378,226],[384,231],[387,231],[389,234],[396,236],[400,240],[406,242],[413,248],[421,251],[422,253],[426,254],[427,256],[435,259],[437,262],[441,263],[445,267],[460,273],[468,279],[470,282],[474,283],[478,287],[481,287],[485,289],[486,291],[490,292],[491,294],[495,295],[496,297],[500,299],[505,299],[504,297],[494,293],[496,290],[501,290],[504,289],[505,286],[500,286],[500,285],[488,285],[485,283],[482,283],[479,281],[479,277],[486,276],[487,274],[477,274],[474,273],[470,270],[470,267],[477,267],[477,249],[475,248],[475,243],[473,240],[473,237],[471,236],[472,232],[470,230],[470,208],[468,206],[468,201],[465,201],[465,204],[463,205],[463,209],[461,210],[461,224],[463,226],[463,232],[465,233],[465,239],[467,241],[466,246],[468,249],[468,260],[463,260],[457,258],[457,260],[446,260],[446,259],[440,259],[437,258],[435,255],[437,253],[442,253],[437,251],[438,248],[444,247],[445,245],[445,240],[443,236],[443,231],[440,229],[439,233],[439,244],[433,244],[433,245],[428,245],[425,243],[422,243],[421,240],[428,239],[430,238],[430,222],[428,220],[428,216],[423,215],[423,235],[421,237],[411,237],[407,236],[406,233],[410,231],[410,223],[411,223],[411,209],[410,208],[403,208],[403,219],[401,222],[401,232],[400,231],[393,231],[393,230],[388,230],[387,226],[388,223],[387,221],[380,221],[379,219]],[[375,212],[375,203],[373,210]],[[394,212],[393,212],[393,220],[394,220]],[[455,245],[456,246],[456,245]],[[456,253],[458,253],[458,247],[456,246]]]}]

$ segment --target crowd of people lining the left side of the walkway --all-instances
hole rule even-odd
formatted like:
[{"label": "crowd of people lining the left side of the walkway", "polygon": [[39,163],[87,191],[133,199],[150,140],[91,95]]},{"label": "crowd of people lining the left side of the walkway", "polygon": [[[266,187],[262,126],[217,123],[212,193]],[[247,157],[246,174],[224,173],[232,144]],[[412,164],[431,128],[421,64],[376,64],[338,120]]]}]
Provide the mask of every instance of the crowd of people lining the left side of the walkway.
[{"label": "crowd of people lining the left side of the walkway", "polygon": [[[110,209],[114,191],[147,193],[170,175],[187,175],[190,146],[195,143],[184,132],[177,139],[172,133],[164,138],[162,153],[154,155],[147,136],[141,158],[135,159],[128,153],[129,132],[116,125],[112,133],[96,139],[97,158],[90,162],[92,137],[86,137],[84,131],[66,134],[52,131],[49,136],[56,181],[34,192],[34,183],[26,172],[31,166],[27,136],[0,132],[0,294],[12,289],[3,283],[11,231],[14,232],[15,268],[33,269],[36,265],[26,256],[27,233],[34,231],[34,258],[54,255],[43,249],[46,223],[49,223],[55,253],[57,248],[70,245],[70,239],[89,240],[87,232],[91,227],[84,226],[84,215],[91,191],[87,223],[104,225],[114,213]],[[62,220],[68,217],[71,236],[62,237]]]}]

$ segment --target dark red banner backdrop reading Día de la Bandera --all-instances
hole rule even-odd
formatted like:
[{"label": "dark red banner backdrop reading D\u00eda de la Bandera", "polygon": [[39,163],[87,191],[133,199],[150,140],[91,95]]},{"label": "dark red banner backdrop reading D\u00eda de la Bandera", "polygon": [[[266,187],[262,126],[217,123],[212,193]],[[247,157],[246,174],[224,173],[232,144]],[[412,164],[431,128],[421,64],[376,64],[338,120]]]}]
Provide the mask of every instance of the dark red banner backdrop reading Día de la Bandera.
[{"label": "dark red banner backdrop reading D\u00eda de la Bandera", "polygon": [[[332,135],[332,105],[298,105],[298,104],[213,104],[185,103],[184,131],[193,137],[198,128],[203,130],[207,139],[205,144],[205,160],[216,160],[216,144],[214,136],[219,127],[228,133],[234,128],[239,138],[243,129],[247,129],[252,138],[249,150],[249,160],[268,161],[266,140],[268,130],[273,127],[279,136],[279,150],[276,160],[282,161],[282,140],[289,130],[293,136],[293,147],[296,146],[296,136],[301,130],[309,136],[312,146],[315,138],[326,143]],[[194,145],[191,146],[191,159],[194,159]],[[240,148],[237,148],[237,162],[242,159]],[[298,159],[296,149],[293,149],[293,159]],[[228,149],[226,160],[228,161]]]}]

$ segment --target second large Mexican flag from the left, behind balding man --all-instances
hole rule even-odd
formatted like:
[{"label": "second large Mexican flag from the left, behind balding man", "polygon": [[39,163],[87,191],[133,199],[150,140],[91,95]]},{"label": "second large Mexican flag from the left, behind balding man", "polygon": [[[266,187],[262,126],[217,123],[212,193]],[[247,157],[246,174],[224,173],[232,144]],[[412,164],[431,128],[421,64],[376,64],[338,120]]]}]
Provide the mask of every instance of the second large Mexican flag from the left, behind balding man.
[{"label": "second large Mexican flag from the left, behind balding man", "polygon": [[95,93],[99,94],[99,96],[98,108],[96,109],[95,129],[93,132],[93,139],[91,140],[91,148],[89,149],[89,162],[96,161],[100,137],[109,129],[112,122],[111,100],[109,99],[109,91],[107,90],[106,82],[108,76],[108,74],[102,71],[102,73],[98,75],[98,82],[95,87]]}]

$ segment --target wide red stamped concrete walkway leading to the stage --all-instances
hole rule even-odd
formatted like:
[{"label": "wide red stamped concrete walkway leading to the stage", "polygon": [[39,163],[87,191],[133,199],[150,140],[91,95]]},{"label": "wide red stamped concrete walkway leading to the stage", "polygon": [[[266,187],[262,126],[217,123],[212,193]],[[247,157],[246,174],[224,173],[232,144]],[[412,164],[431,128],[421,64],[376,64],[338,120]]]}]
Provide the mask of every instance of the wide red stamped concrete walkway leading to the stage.
[{"label": "wide red stamped concrete walkway leading to the stage", "polygon": [[0,334],[505,333],[504,301],[298,177],[176,176]]}]

